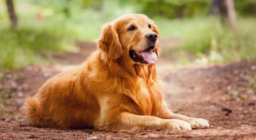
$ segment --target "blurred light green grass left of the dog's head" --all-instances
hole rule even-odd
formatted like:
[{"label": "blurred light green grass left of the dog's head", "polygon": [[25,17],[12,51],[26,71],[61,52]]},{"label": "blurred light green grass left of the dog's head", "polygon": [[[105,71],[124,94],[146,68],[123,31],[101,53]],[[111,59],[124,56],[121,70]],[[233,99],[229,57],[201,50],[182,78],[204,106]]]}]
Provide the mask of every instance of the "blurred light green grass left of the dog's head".
[{"label": "blurred light green grass left of the dog's head", "polygon": [[[5,3],[0,2],[0,69],[48,62],[53,53],[72,50],[75,40],[98,39],[104,23],[132,11],[129,7],[113,8],[118,6],[111,1],[104,1],[102,11],[77,8],[82,1],[72,1],[70,16],[66,17],[55,9],[58,4],[51,7],[29,0],[15,2],[19,22],[16,29],[10,28]],[[44,16],[41,21],[35,20],[38,13]]]}]

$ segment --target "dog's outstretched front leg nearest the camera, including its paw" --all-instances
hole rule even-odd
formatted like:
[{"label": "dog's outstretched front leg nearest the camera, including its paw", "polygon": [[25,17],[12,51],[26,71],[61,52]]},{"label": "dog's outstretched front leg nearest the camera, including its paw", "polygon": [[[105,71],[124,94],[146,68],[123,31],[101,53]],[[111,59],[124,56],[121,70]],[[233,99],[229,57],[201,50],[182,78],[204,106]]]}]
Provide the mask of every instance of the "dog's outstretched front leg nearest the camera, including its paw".
[{"label": "dog's outstretched front leg nearest the camera, including its paw", "polygon": [[104,119],[99,129],[108,131],[135,131],[141,128],[156,130],[191,130],[190,124],[182,120],[161,119],[155,116],[139,116],[128,112],[121,113],[112,119]]}]

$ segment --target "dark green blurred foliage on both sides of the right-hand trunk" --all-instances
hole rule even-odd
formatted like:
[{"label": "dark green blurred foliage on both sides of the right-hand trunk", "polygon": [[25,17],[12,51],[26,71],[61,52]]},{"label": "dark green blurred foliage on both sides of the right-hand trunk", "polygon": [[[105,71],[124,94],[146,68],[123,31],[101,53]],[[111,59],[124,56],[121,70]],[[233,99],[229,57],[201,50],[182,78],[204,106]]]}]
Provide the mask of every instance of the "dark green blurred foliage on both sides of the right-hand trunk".
[{"label": "dark green blurred foliage on both sides of the right-hand trunk", "polygon": [[[151,17],[191,18],[211,12],[212,0],[142,0],[143,12]],[[238,15],[255,16],[256,0],[234,0]]]}]

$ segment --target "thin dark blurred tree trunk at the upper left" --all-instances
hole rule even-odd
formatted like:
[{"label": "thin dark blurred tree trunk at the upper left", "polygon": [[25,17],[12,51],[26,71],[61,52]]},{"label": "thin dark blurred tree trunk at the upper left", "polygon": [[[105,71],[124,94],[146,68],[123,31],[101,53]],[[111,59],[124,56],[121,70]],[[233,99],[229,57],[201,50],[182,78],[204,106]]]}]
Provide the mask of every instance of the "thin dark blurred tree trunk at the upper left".
[{"label": "thin dark blurred tree trunk at the upper left", "polygon": [[16,13],[14,10],[12,0],[6,0],[6,5],[7,5],[11,25],[12,25],[12,27],[16,27],[18,24],[18,20],[17,20],[17,16],[16,16]]}]

